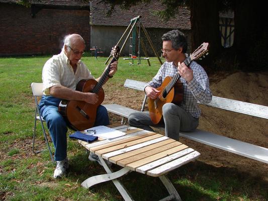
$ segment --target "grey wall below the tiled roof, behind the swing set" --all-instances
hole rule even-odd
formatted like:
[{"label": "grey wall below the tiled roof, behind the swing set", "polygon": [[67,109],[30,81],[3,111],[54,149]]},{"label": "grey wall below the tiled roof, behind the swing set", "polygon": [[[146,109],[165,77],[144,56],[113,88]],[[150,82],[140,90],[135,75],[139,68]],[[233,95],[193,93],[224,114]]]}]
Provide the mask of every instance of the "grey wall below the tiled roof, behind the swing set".
[{"label": "grey wall below the tiled roof, behind the swing set", "polygon": [[[102,54],[103,56],[109,56],[111,52],[111,48],[114,47],[118,43],[118,41],[120,40],[120,38],[122,37],[126,29],[127,27],[119,27],[119,26],[91,26],[91,47],[97,46],[98,48],[101,48],[101,51],[104,52]],[[146,28],[146,31],[159,56],[161,55],[161,49],[162,49],[161,36],[170,30],[171,29]],[[190,44],[190,41],[191,41],[190,31],[182,31],[182,32],[186,35],[188,39],[188,44]],[[129,32],[126,33],[125,37],[119,43],[120,48],[122,48],[123,43],[125,42],[126,36],[128,35],[128,33]],[[151,56],[151,57],[155,56],[143,31],[141,31],[141,40],[144,42],[145,50],[148,56]],[[130,46],[130,41],[128,39],[122,51],[121,56],[124,56],[124,57],[129,56],[129,53],[130,53],[129,46]],[[145,56],[144,51],[141,46],[140,46],[140,50],[141,50],[141,56]],[[190,46],[188,50],[191,52]],[[137,56],[137,51],[138,51],[138,39],[136,39],[136,51],[135,51],[136,56]]]}]

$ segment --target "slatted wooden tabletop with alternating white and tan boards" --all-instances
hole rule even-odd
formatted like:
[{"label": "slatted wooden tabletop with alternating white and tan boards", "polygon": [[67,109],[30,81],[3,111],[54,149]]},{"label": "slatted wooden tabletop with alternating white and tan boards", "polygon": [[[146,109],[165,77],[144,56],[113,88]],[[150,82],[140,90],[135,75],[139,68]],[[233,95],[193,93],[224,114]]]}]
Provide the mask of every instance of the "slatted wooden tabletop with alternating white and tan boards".
[{"label": "slatted wooden tabletop with alternating white and tan boards", "polygon": [[199,152],[163,135],[126,126],[110,125],[126,135],[94,143],[78,140],[87,150],[122,167],[150,176],[161,176],[197,159]]}]

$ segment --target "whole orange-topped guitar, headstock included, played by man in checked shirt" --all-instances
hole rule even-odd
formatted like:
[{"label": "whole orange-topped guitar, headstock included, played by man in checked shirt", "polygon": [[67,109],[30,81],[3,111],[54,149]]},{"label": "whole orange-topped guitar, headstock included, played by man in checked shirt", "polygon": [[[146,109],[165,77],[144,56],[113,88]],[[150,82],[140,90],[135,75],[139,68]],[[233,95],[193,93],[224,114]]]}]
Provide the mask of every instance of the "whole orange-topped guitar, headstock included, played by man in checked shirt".
[{"label": "whole orange-topped guitar, headstock included, played by man in checked shirt", "polygon": [[[190,63],[205,56],[208,51],[208,43],[202,43],[190,56],[188,56],[184,63],[189,66]],[[176,73],[174,77],[167,76],[164,78],[160,87],[157,98],[148,98],[148,108],[151,120],[154,124],[158,124],[162,119],[162,107],[166,103],[173,103],[180,105],[183,101],[183,83],[180,81],[181,75]]]}]

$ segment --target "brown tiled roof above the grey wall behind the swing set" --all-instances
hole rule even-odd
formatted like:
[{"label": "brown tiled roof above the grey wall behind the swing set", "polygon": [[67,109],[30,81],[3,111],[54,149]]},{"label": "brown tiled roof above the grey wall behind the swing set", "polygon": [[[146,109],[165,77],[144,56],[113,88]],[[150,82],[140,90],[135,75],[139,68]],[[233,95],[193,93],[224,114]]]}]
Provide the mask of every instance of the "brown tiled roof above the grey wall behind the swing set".
[{"label": "brown tiled roof above the grey wall behind the swing set", "polygon": [[157,0],[152,0],[147,5],[141,4],[132,7],[129,11],[121,10],[119,6],[116,6],[110,17],[107,16],[109,7],[99,4],[99,2],[100,0],[91,1],[91,25],[128,26],[131,19],[142,16],[141,21],[146,28],[191,29],[190,11],[186,8],[178,9],[175,18],[166,22],[152,15],[152,11],[163,10],[160,1]]}]

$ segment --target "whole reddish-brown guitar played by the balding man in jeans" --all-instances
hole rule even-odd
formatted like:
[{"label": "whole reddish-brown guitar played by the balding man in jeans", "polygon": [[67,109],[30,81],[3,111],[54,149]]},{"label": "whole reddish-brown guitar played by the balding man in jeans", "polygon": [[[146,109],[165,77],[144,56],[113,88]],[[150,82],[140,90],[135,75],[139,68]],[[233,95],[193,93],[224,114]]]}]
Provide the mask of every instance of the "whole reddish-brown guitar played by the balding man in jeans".
[{"label": "whole reddish-brown guitar played by the balding man in jeans", "polygon": [[91,128],[95,124],[97,108],[104,100],[104,90],[102,85],[110,72],[110,65],[119,58],[120,48],[112,48],[112,60],[103,72],[99,82],[95,79],[82,79],[76,85],[76,90],[81,92],[97,93],[99,100],[96,104],[89,104],[80,100],[62,100],[59,104],[58,111],[63,116],[69,128],[82,131]]}]

